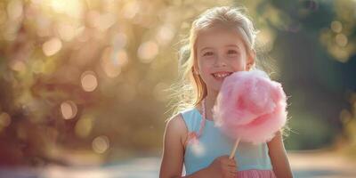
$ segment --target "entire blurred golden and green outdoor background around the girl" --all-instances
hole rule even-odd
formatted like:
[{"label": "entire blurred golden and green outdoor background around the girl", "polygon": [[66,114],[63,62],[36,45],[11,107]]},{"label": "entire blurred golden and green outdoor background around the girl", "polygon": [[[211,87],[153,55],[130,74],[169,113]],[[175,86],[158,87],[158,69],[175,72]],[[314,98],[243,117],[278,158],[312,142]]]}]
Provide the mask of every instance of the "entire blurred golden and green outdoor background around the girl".
[{"label": "entire blurred golden and green outdoor background around the girl", "polygon": [[289,96],[295,176],[356,175],[354,0],[2,0],[0,177],[158,177],[179,50],[221,5]]}]

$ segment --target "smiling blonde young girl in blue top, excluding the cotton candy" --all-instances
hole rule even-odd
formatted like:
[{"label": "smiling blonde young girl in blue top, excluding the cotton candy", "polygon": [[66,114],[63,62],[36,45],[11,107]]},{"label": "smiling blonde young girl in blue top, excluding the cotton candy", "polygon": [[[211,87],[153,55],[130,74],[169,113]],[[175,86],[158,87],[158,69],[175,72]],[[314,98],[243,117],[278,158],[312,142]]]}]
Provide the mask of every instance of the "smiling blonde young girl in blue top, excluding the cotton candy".
[{"label": "smiling blonde young girl in blue top, excluding the cotton candy", "polygon": [[[214,126],[212,109],[224,77],[255,69],[255,28],[237,8],[215,7],[204,12],[190,29],[190,57],[184,63],[193,93],[191,107],[166,125],[159,176],[292,177],[280,132],[271,142],[240,142],[229,159],[234,141]],[[192,102],[191,102],[192,101]]]}]

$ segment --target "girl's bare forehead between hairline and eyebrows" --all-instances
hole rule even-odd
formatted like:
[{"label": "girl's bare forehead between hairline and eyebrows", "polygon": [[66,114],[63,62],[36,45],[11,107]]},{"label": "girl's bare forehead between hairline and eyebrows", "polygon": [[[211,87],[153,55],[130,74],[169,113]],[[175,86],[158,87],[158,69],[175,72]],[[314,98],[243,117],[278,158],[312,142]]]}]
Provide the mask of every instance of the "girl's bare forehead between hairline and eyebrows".
[{"label": "girl's bare forehead between hairline and eyebrows", "polygon": [[244,47],[238,31],[231,28],[208,28],[200,31],[196,42],[198,50],[206,47],[219,48],[230,44]]}]

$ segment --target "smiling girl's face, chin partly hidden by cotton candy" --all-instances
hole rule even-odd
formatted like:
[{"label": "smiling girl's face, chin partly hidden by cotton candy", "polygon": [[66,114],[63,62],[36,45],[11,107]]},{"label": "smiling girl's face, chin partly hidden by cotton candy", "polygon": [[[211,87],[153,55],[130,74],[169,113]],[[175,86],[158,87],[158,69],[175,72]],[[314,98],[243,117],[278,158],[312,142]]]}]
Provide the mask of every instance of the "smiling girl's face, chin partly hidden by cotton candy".
[{"label": "smiling girl's face, chin partly hidden by cotton candy", "polygon": [[207,90],[218,92],[223,79],[232,72],[247,70],[254,57],[247,55],[239,33],[228,28],[210,28],[197,39],[195,70],[206,83]]}]

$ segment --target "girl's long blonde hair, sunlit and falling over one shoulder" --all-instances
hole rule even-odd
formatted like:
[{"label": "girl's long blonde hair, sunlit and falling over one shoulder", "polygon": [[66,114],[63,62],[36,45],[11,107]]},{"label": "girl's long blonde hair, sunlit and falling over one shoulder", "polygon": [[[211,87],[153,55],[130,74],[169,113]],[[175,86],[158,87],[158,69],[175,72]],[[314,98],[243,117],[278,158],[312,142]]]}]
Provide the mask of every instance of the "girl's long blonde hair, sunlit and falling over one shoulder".
[{"label": "girl's long blonde hair, sunlit and falling over one shoulder", "polygon": [[[237,29],[246,45],[247,53],[255,51],[255,38],[258,32],[242,10],[243,8],[240,7],[214,7],[203,12],[192,22],[189,44],[182,46],[180,52],[180,70],[183,71],[180,76],[181,81],[180,84],[173,86],[177,98],[174,115],[182,109],[196,107],[207,94],[206,84],[194,69],[197,64],[196,42],[202,30],[216,26]],[[252,68],[255,69],[256,66]]]}]

